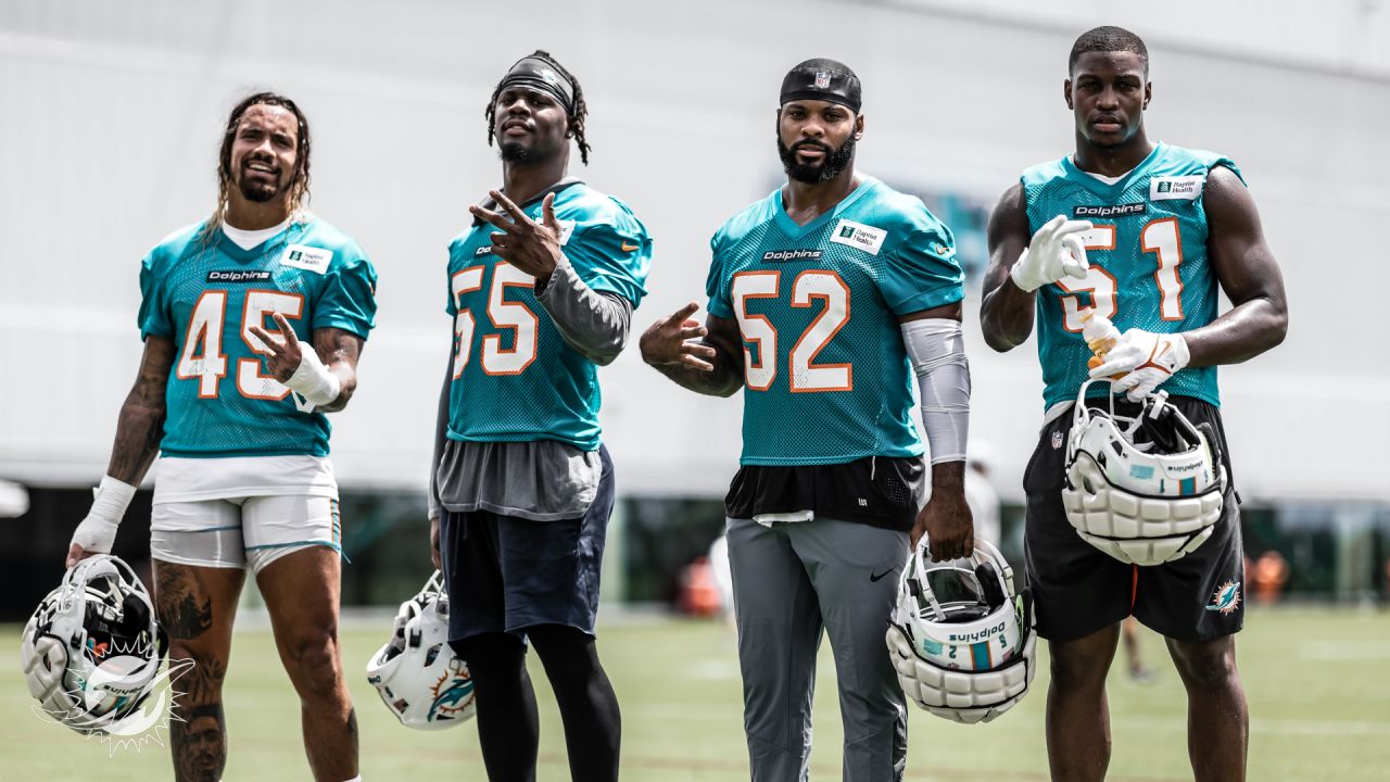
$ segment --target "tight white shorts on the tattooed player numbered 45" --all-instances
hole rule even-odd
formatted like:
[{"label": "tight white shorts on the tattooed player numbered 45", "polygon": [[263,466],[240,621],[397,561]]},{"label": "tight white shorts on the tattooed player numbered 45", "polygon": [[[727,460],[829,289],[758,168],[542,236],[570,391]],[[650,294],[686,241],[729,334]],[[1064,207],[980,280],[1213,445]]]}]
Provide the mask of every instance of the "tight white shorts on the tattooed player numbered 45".
[{"label": "tight white shorts on the tattooed player numbered 45", "polygon": [[342,520],[332,497],[281,495],[160,502],[150,516],[150,555],[202,568],[260,573],[313,545],[342,554]]}]

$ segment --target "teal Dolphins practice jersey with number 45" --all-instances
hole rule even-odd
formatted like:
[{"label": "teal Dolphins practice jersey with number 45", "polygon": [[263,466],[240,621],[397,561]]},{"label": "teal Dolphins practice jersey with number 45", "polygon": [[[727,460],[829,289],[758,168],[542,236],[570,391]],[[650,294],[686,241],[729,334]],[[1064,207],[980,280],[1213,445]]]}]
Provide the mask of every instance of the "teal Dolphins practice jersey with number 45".
[{"label": "teal Dolphins practice jersey with number 45", "polygon": [[303,349],[316,328],[366,338],[375,323],[377,273],[350,238],[317,218],[291,223],[245,250],[204,224],[160,242],[140,267],[140,335],[174,341],[161,449],[167,456],[328,455],[331,426],[265,374],[264,344],[278,312]]}]

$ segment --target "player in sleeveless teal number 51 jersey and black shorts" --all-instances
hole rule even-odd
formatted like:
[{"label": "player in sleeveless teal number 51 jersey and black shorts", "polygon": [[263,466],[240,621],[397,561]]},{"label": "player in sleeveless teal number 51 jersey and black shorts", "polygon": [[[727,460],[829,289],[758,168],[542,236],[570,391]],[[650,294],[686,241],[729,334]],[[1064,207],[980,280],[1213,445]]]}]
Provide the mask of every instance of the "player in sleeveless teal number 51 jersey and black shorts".
[{"label": "player in sleeveless teal number 51 jersey and black shorts", "polygon": [[[1216,436],[1226,474],[1216,365],[1284,338],[1283,280],[1236,164],[1151,142],[1154,90],[1134,33],[1101,26],[1072,47],[1063,96],[1076,152],[1026,170],[990,220],[991,266],[980,319],[1008,351],[1037,320],[1044,426],[1024,476],[1027,572],[1038,633],[1049,640],[1047,744],[1054,779],[1101,779],[1109,763],[1105,675],[1130,614],[1166,636],[1187,687],[1195,778],[1243,779],[1248,715],[1236,671],[1243,582],[1240,515],[1226,481],[1223,518],[1180,559],[1136,566],[1087,544],[1062,505],[1068,412],[1087,380],[1083,314],[1108,317],[1118,344],[1091,377],[1118,377],[1137,401],[1169,394]],[[1232,309],[1218,314],[1218,292]],[[1108,383],[1093,384],[1108,404]],[[1122,399],[1125,402],[1125,399]],[[1126,413],[1126,409],[1129,410]],[[1137,405],[1116,405],[1133,415]],[[1232,590],[1234,589],[1234,591]]]}]

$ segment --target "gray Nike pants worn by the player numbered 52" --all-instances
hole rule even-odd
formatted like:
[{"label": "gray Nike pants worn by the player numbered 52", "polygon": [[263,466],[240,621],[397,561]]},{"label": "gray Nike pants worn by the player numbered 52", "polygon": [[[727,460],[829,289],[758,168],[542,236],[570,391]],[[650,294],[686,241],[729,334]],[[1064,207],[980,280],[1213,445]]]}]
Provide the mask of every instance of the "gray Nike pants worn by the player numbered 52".
[{"label": "gray Nike pants worn by the player numbered 52", "polygon": [[744,731],[753,782],[805,781],[816,650],[830,633],[845,782],[901,781],[908,710],[884,644],[908,534],[817,518],[728,519]]}]

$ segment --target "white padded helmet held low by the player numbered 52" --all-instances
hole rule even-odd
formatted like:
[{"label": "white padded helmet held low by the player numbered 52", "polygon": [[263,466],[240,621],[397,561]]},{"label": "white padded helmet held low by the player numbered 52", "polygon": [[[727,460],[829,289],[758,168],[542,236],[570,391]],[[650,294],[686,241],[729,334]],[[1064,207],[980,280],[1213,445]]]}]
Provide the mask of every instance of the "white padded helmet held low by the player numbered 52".
[{"label": "white padded helmet held low by the player numbered 52", "polygon": [[955,722],[994,719],[1033,682],[1031,601],[981,538],[969,559],[947,562],[933,562],[922,538],[902,568],[887,641],[903,694]]}]

